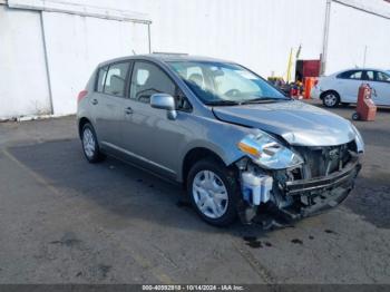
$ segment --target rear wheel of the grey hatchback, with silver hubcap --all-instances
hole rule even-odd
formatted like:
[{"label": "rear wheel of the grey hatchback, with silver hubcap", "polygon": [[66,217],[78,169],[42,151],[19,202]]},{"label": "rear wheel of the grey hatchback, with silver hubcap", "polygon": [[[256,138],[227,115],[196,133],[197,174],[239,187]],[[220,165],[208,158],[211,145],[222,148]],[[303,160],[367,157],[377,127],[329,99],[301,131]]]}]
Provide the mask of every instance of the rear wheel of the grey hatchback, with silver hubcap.
[{"label": "rear wheel of the grey hatchback, with silver hubcap", "polygon": [[81,144],[84,155],[90,163],[101,162],[105,156],[100,153],[99,144],[96,138],[95,129],[91,124],[87,123],[82,126]]}]

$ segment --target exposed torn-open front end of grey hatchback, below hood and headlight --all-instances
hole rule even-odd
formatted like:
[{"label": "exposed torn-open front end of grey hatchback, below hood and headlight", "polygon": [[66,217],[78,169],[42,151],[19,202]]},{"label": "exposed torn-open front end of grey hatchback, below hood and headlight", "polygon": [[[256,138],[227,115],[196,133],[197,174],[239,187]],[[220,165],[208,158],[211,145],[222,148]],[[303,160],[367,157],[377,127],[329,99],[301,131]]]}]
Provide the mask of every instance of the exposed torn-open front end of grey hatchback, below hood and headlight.
[{"label": "exposed torn-open front end of grey hatchback, below hood and headlight", "polygon": [[286,169],[265,169],[243,158],[236,163],[243,202],[243,223],[264,227],[290,224],[340,204],[351,192],[361,165],[354,140],[324,147],[294,146],[303,164]]}]

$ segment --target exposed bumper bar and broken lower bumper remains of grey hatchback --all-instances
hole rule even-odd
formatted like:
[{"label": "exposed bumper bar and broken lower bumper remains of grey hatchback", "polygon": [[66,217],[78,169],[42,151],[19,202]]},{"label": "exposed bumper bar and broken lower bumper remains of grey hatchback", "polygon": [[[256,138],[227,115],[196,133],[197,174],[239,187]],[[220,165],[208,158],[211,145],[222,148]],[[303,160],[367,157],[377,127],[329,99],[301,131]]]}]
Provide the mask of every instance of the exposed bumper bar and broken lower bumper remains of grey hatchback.
[{"label": "exposed bumper bar and broken lower bumper remains of grey hatchback", "polygon": [[260,223],[270,227],[289,225],[293,221],[322,213],[348,197],[360,169],[360,159],[355,155],[342,169],[326,176],[283,183],[275,179],[271,199],[259,206],[242,202],[240,217],[243,223]]}]

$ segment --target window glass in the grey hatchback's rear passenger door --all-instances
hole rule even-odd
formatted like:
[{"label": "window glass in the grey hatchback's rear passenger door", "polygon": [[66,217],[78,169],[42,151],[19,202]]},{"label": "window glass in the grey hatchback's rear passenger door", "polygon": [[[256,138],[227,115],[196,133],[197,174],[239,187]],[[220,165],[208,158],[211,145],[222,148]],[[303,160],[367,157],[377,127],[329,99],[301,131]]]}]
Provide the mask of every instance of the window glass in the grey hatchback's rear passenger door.
[{"label": "window glass in the grey hatchback's rear passenger door", "polygon": [[110,65],[105,78],[106,81],[103,91],[108,95],[124,97],[128,68],[128,62]]}]

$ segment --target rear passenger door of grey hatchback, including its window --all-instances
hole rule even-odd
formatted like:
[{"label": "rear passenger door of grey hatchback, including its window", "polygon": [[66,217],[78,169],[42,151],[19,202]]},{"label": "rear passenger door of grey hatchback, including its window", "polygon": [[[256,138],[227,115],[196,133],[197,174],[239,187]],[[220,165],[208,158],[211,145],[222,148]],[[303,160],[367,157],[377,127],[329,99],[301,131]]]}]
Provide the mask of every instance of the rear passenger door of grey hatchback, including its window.
[{"label": "rear passenger door of grey hatchback, including its window", "polygon": [[104,148],[121,145],[120,127],[124,123],[124,104],[129,61],[115,62],[99,69],[96,94],[90,99],[95,127]]}]

